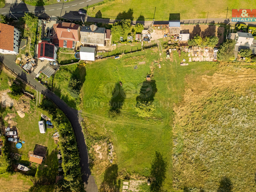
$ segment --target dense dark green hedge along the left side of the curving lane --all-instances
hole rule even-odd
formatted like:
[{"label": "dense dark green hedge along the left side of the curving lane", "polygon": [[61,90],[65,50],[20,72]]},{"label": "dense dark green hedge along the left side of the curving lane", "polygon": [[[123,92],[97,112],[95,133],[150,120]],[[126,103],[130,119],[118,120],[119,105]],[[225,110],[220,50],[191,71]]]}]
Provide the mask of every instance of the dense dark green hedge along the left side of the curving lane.
[{"label": "dense dark green hedge along the left side of the curving lane", "polygon": [[[49,106],[52,107],[49,108]],[[60,133],[64,180],[57,183],[57,189],[59,191],[84,191],[77,142],[70,122],[63,112],[56,109],[49,100],[44,99],[41,108],[53,115],[53,125]]]}]

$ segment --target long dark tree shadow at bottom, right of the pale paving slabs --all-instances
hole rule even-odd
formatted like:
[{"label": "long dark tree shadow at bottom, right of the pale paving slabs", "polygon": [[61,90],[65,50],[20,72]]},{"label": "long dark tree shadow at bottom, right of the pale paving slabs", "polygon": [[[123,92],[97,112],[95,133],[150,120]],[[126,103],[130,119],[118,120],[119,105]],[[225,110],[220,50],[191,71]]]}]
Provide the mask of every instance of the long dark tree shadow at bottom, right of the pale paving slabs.
[{"label": "long dark tree shadow at bottom, right of the pale paving slabs", "polygon": [[151,164],[150,177],[152,179],[150,191],[162,191],[162,185],[165,183],[167,170],[167,160],[158,151],[155,152],[155,158]]}]

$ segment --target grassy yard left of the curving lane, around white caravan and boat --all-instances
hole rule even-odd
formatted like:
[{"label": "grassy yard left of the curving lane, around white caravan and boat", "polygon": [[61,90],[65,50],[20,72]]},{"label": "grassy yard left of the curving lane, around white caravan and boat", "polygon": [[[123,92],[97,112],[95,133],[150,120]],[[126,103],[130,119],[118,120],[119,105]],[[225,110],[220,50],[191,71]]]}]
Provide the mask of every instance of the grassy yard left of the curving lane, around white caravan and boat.
[{"label": "grassy yard left of the curving lane, around white caravan and boat", "polygon": [[[1,98],[5,90],[10,88],[10,84],[13,84],[14,78],[5,70],[2,70],[0,73],[1,84]],[[15,80],[18,81],[17,79]],[[54,143],[54,140],[51,138],[52,134],[55,132],[53,129],[47,129],[45,134],[41,134],[38,129],[38,121],[41,120],[41,113],[47,114],[47,112],[38,108],[37,105],[40,104],[39,101],[42,101],[43,95],[40,95],[35,90],[26,87],[21,84],[22,88],[27,92],[35,96],[35,99],[32,100],[27,96],[22,95],[18,100],[13,100],[14,105],[12,107],[1,108],[1,116],[3,117],[3,123],[5,127],[10,127],[15,129],[18,133],[18,137],[21,141],[25,141],[22,144],[21,149],[15,147],[16,143],[7,142],[9,146],[9,154],[19,153],[21,158],[19,160],[12,159],[12,166],[15,169],[17,164],[22,164],[30,167],[30,171],[27,171],[23,174],[26,174],[28,177],[23,177],[22,175],[17,178],[15,174],[13,177],[13,182],[17,181],[19,184],[14,187],[13,191],[22,191],[20,185],[31,186],[32,182],[29,178],[37,184],[53,184],[55,183],[55,176],[57,175],[58,161],[57,161],[57,145]],[[39,98],[40,95],[40,98]],[[6,97],[6,96],[5,96]],[[25,117],[21,118],[17,114],[17,110],[23,109],[25,112]],[[36,145],[45,146],[45,160],[42,165],[29,162],[28,153],[33,151]],[[9,173],[6,173],[7,175]],[[0,180],[3,182],[7,178],[4,175],[1,175]],[[15,180],[16,179],[16,180]],[[10,187],[10,186],[9,186]]]}]

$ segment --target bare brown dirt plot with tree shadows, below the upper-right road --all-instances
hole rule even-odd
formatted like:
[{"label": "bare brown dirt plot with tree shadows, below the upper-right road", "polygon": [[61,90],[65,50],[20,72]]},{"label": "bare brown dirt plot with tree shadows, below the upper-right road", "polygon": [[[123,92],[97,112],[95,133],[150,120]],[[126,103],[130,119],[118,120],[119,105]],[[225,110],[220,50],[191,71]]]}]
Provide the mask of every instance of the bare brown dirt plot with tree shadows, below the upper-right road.
[{"label": "bare brown dirt plot with tree shadows, below the upper-right road", "polygon": [[219,46],[224,40],[224,27],[222,26],[214,26],[214,25],[181,25],[181,30],[188,31],[190,34],[190,39],[195,37],[196,35],[200,35],[201,37],[209,37],[209,36],[217,36],[219,38],[219,42],[217,46]]}]

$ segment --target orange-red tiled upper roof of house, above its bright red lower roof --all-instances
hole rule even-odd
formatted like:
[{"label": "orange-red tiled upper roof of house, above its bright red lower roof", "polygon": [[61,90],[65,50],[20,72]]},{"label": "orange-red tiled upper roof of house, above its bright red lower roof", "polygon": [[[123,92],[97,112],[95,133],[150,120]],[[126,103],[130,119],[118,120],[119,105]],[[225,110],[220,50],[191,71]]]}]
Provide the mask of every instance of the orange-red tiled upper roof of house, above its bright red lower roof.
[{"label": "orange-red tiled upper roof of house, above its bright red lower roof", "polygon": [[59,40],[79,41],[78,39],[79,25],[74,23],[63,22],[63,23],[54,24],[53,28],[54,28],[53,39],[57,38]]}]

